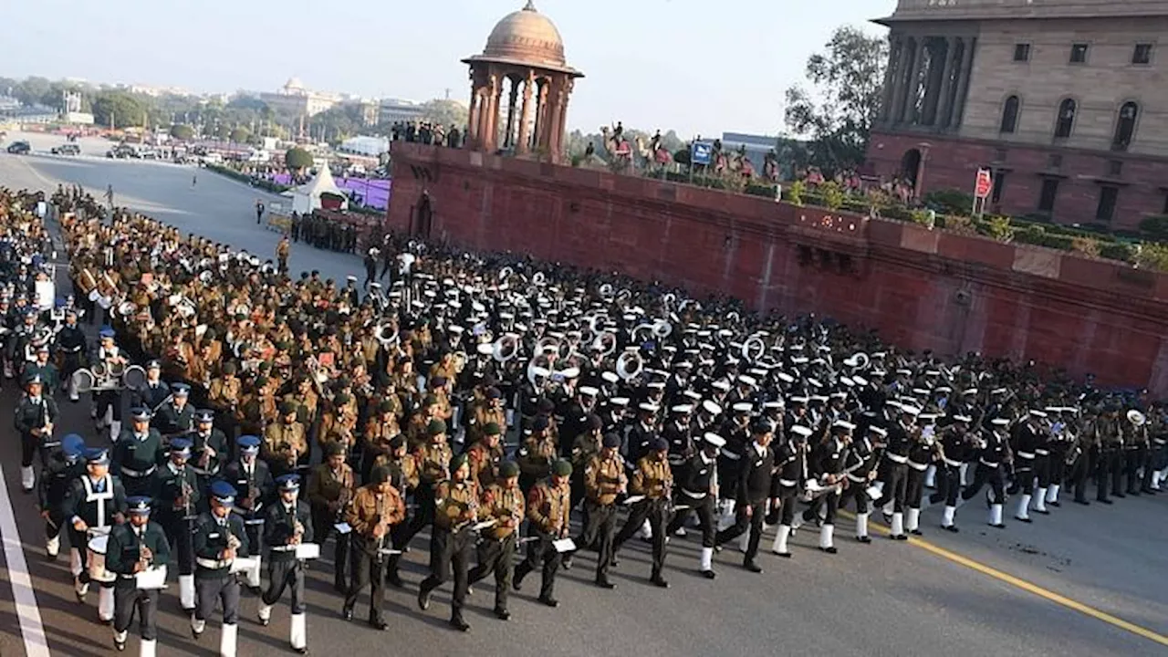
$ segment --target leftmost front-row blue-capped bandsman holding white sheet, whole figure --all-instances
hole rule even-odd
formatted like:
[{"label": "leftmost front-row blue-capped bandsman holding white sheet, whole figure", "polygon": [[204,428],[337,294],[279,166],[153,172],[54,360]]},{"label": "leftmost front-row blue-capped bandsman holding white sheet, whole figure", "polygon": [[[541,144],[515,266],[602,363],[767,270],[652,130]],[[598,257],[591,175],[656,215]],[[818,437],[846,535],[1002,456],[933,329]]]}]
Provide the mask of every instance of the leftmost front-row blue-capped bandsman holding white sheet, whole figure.
[{"label": "leftmost front-row blue-capped bandsman holding white sheet, whole figure", "polygon": [[141,657],[154,657],[158,650],[158,599],[161,589],[138,588],[137,575],[150,568],[165,567],[171,561],[171,545],[157,523],[150,521],[151,499],[126,500],[128,523],[113,527],[106,545],[105,569],[117,574],[113,583],[113,646],[126,649],[130,623],[138,614],[141,632]]}]

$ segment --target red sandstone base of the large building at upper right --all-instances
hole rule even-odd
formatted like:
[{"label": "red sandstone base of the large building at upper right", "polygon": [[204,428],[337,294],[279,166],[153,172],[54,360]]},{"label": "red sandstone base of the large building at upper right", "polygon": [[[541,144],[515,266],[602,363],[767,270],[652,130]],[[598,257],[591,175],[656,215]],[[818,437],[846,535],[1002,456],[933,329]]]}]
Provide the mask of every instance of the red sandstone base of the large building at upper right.
[{"label": "red sandstone base of the large building at upper right", "polygon": [[[1119,203],[1111,222],[1113,230],[1138,230],[1148,215],[1163,214],[1164,194],[1168,193],[1168,166],[1161,161],[1124,153],[1100,155],[1069,148],[1040,148],[1023,145],[989,144],[924,134],[872,134],[868,161],[875,173],[890,179],[901,174],[904,153],[929,143],[924,185],[933,189],[962,189],[973,192],[973,180],[979,167],[1006,170],[1001,202],[992,212],[1024,216],[1038,209],[1042,173],[1054,173],[1059,179],[1054,220],[1058,223],[1097,223],[1100,182],[1119,187]],[[994,161],[997,150],[1006,151],[1004,161]],[[1049,168],[1049,155],[1059,153],[1063,162],[1058,170]],[[1108,161],[1121,160],[1118,177],[1110,175]],[[993,162],[993,164],[990,164]]]}]

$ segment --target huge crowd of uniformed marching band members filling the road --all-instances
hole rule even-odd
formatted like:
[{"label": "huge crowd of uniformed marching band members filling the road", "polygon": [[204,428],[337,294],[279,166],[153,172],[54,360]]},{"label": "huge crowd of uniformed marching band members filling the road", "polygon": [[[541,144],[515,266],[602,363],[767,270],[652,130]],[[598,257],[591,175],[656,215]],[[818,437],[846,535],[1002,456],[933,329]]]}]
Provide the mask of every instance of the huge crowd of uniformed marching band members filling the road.
[{"label": "huge crowd of uniformed marching band members filling the road", "polygon": [[[0,202],[15,244],[0,258],[26,305],[15,263],[43,230],[27,199]],[[137,608],[142,653],[155,650],[159,590],[142,582],[161,563],[179,572],[196,638],[218,603],[223,655],[242,588],[258,592],[263,624],[288,590],[303,652],[304,563],[331,539],[339,611],[352,620],[368,587],[368,622],[384,630],[384,587],[405,586],[402,554],[429,528],[418,607],[452,581],[450,623],[465,631],[475,581],[493,579],[501,620],[535,570],[537,600],[557,607],[561,568],[588,555],[612,589],[634,537],[652,546],[647,582],[667,588],[687,534],[701,545],[691,567],[714,580],[728,546],[762,573],[764,533],[792,558],[791,537],[814,525],[835,554],[846,506],[867,549],[872,513],[894,539],[925,531],[927,504],[950,532],[959,512],[1003,528],[1041,521],[1064,489],[1112,504],[1168,476],[1161,404],[1034,364],[945,361],[815,317],[408,236],[385,236],[381,276],[338,284],[142,215],[104,221],[77,189],[53,202],[75,302],[53,337],[37,312],[9,337],[33,345],[30,361],[8,357],[26,387],[25,484],[41,491],[50,555],[68,534],[78,600],[99,586],[119,649]],[[376,274],[382,258],[368,260]],[[95,343],[78,318],[100,326]],[[37,369],[51,352],[55,378]],[[97,438],[49,440],[54,396],[86,390]],[[988,512],[961,509],[982,497]]]}]

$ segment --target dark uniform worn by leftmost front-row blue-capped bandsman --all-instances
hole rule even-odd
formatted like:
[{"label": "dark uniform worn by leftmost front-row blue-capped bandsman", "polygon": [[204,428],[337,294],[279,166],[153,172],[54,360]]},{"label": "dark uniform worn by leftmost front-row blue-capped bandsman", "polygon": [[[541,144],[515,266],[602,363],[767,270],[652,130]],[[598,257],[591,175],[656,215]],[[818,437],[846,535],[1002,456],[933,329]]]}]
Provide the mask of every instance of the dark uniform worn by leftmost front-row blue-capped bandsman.
[{"label": "dark uniform worn by leftmost front-row blue-capped bandsman", "polygon": [[130,523],[118,525],[110,532],[105,553],[105,569],[116,573],[113,585],[113,631],[124,632],[138,613],[138,627],[142,641],[157,641],[159,589],[139,589],[134,578],[134,565],[141,556],[141,547],[151,552],[151,566],[166,566],[171,560],[171,546],[158,523],[147,523],[141,528]]}]

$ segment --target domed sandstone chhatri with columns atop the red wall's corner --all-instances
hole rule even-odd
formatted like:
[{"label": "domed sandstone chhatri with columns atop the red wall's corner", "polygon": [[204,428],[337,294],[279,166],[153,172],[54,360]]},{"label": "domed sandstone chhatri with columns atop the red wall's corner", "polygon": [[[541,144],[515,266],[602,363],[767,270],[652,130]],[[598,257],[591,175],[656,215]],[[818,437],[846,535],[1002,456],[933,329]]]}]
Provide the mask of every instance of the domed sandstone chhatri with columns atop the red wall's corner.
[{"label": "domed sandstone chhatri with columns atop the red wall's corner", "polygon": [[471,147],[563,159],[568,97],[584,74],[568,65],[559,30],[531,0],[495,23],[481,55],[463,62],[471,67]]}]

